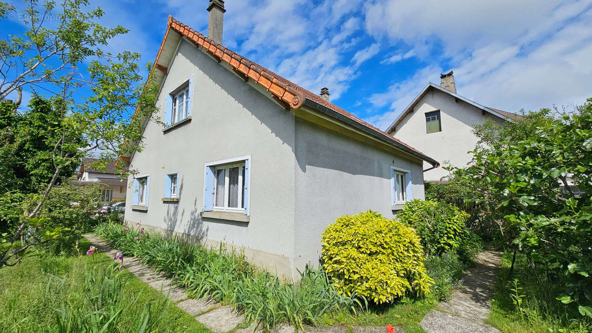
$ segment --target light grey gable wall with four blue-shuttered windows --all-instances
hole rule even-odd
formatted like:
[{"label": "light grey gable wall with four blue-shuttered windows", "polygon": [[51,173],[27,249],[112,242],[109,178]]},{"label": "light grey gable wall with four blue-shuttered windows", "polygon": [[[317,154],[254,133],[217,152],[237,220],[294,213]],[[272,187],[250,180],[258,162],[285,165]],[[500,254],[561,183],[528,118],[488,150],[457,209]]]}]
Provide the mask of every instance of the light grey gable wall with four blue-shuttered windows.
[{"label": "light grey gable wall with four blue-shuttered windows", "polygon": [[[162,126],[150,121],[144,131],[146,149],[131,158],[132,169],[150,175],[148,210],[132,210],[128,200],[125,219],[170,236],[241,246],[255,264],[291,278],[294,117],[271,98],[262,98],[269,92],[247,84],[182,40],[157,101],[161,119],[166,95],[191,75],[191,122],[163,133]],[[245,155],[251,156],[250,222],[202,217],[205,164]],[[179,172],[180,199],[163,203],[165,175],[173,172]],[[133,197],[133,187],[127,194]]]}]

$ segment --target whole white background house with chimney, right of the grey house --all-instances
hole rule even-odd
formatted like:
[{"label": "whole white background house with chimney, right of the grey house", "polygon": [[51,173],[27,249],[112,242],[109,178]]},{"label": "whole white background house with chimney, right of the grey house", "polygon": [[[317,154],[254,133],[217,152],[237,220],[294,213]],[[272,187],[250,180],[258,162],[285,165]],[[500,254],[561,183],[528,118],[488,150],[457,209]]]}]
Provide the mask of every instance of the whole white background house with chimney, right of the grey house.
[{"label": "whole white background house with chimney, right of the grey house", "polygon": [[[487,119],[502,124],[522,116],[484,107],[456,94],[452,71],[440,75],[440,79],[440,86],[426,85],[385,132],[437,161],[447,161],[453,167],[462,168],[471,161],[472,155],[468,152],[475,149],[478,142],[477,136],[471,132],[475,124],[482,124]],[[424,163],[424,168],[430,168],[430,165]],[[448,174],[443,168],[430,169],[424,173],[424,179],[439,181]]]}]

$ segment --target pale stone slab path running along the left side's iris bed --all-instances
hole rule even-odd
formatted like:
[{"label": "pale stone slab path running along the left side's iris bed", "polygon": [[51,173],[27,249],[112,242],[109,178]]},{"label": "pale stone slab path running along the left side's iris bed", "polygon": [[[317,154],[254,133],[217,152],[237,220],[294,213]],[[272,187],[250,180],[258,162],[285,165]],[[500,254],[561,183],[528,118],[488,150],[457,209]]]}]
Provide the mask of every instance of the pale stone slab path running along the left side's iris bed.
[{"label": "pale stone slab path running along the left side's iris bed", "polygon": [[[108,257],[114,257],[117,253],[111,245],[96,237],[95,235],[84,235],[92,245],[103,252]],[[141,264],[139,258],[126,257],[124,259],[123,267],[137,276],[141,281],[147,283],[150,287],[162,291],[163,294],[168,294],[171,302],[184,310],[191,316],[195,316],[195,320],[201,322],[204,326],[213,332],[229,332],[232,333],[252,333],[253,327],[237,328],[236,326],[243,322],[243,316],[234,312],[231,306],[223,306],[220,303],[213,302],[210,299],[192,299],[181,287],[173,284],[173,279],[166,277],[164,273],[155,272],[152,268]],[[353,326],[354,333],[382,333],[386,332],[384,326]],[[329,326],[329,327],[307,327],[307,332],[313,333],[341,333],[348,331],[347,326]],[[257,332],[261,332],[259,329]],[[280,325],[274,329],[274,333],[294,333],[296,329],[291,325]],[[298,330],[298,332],[301,332]],[[403,333],[403,329],[395,327],[394,333]]]}]

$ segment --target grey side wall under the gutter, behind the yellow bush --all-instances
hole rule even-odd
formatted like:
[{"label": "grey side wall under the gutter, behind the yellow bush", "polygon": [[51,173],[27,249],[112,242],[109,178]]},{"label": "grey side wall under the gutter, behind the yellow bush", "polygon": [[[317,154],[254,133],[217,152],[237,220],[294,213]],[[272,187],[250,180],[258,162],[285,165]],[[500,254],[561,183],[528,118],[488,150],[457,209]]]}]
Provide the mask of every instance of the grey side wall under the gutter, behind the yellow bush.
[{"label": "grey side wall under the gutter, behind the yellow bush", "polygon": [[[337,217],[374,210],[395,217],[391,166],[411,171],[413,197],[424,198],[422,161],[296,119],[294,262],[317,264],[321,233]],[[408,156],[408,155],[406,155]]]}]

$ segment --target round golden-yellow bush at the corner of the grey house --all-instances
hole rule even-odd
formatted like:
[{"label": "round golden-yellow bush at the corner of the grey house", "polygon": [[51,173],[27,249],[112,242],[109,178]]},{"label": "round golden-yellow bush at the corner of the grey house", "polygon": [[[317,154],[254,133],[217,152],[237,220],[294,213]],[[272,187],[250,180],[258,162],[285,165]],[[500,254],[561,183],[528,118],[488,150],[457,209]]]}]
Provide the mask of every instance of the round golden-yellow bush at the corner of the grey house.
[{"label": "round golden-yellow bush at the corner of the grey house", "polygon": [[390,303],[433,284],[413,229],[368,211],[339,217],[323,232],[323,267],[337,289]]}]

